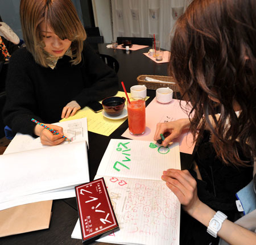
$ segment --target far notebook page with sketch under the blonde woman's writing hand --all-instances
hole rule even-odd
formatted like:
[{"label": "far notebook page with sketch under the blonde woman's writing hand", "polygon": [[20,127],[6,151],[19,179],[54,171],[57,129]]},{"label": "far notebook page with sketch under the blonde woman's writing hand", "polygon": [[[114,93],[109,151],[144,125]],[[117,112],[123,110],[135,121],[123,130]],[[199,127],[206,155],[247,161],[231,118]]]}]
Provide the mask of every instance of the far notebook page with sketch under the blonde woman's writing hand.
[{"label": "far notebook page with sketch under the blonde woman's writing hand", "polygon": [[[72,121],[56,122],[54,125],[61,126],[63,128],[64,136],[72,140],[72,142],[64,141],[62,145],[86,141],[87,146],[89,146],[86,117]],[[5,154],[40,149],[44,147],[49,146],[42,145],[40,137],[34,138],[28,134],[16,133],[15,137],[5,150]]]}]

